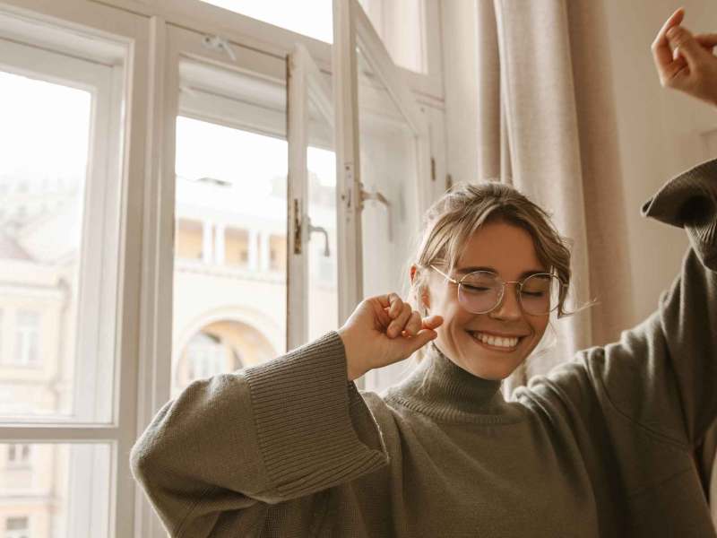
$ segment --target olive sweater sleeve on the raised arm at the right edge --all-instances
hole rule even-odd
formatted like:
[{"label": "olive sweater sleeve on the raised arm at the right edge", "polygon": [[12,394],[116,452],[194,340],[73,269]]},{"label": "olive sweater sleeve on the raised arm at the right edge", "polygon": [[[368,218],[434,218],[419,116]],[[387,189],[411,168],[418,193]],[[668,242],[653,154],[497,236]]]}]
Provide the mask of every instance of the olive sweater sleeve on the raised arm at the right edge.
[{"label": "olive sweater sleeve on the raised arm at the right edge", "polygon": [[651,317],[578,361],[618,412],[694,448],[717,418],[717,160],[671,179],[642,213],[687,231],[681,271]]}]

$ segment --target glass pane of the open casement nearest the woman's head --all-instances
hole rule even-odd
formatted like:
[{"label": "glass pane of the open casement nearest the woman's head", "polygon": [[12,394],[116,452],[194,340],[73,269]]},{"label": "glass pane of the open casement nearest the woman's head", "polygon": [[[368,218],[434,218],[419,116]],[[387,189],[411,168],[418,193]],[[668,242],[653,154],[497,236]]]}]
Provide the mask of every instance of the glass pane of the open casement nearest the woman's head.
[{"label": "glass pane of the open casement nearest the woman's head", "polygon": [[[374,197],[365,202],[361,219],[363,295],[403,295],[419,230],[417,139],[360,51],[357,62],[361,182]],[[398,363],[388,369],[403,367]],[[388,377],[367,376],[367,388],[384,388],[379,378]]]}]

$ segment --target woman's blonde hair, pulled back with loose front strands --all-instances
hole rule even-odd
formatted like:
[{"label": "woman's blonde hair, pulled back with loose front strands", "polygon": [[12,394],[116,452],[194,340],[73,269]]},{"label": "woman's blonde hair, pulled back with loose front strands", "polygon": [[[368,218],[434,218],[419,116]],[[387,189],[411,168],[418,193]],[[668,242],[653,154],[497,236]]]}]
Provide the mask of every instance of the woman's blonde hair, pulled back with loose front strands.
[{"label": "woman's blonde hair, pulled back with loose front strands", "polygon": [[[536,254],[548,273],[556,274],[564,286],[558,294],[557,318],[569,317],[596,301],[588,301],[572,311],[566,309],[570,291],[572,271],[570,268],[570,246],[572,241],[557,231],[551,215],[534,204],[518,189],[494,180],[478,184],[456,184],[448,189],[424,214],[420,230],[417,253],[406,267],[417,266],[413,282],[409,284],[404,297],[411,307],[422,316],[428,309],[421,296],[428,286],[430,266],[443,266],[451,273],[458,264],[463,247],[471,236],[485,224],[503,221],[528,231],[533,239]],[[555,336],[555,330],[550,325]],[[555,345],[554,337],[549,347]],[[549,349],[549,348],[548,348]],[[543,349],[541,352],[547,351]],[[417,357],[422,358],[422,353]]]}]

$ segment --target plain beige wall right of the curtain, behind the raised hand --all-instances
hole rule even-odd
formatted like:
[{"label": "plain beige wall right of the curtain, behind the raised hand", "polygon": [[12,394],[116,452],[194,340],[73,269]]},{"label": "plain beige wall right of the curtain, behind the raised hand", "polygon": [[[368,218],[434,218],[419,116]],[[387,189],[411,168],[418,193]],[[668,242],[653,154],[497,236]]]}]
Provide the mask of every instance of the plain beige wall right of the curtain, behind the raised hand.
[{"label": "plain beige wall right of the curtain, behind the raised hand", "polygon": [[644,219],[641,204],[673,175],[708,158],[700,133],[717,126],[717,110],[663,89],[652,64],[652,39],[680,5],[687,10],[687,28],[717,29],[717,4],[712,0],[605,3],[635,323],[657,307],[660,292],[674,279],[687,248],[682,230]]}]

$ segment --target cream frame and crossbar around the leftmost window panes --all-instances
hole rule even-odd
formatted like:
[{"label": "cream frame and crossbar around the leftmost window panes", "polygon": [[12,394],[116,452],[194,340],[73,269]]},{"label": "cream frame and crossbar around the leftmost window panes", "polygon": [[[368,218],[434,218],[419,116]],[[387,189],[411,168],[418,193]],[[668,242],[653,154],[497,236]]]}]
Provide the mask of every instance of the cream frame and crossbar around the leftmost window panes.
[{"label": "cream frame and crossbar around the leftmost window panes", "polygon": [[[60,38],[67,37],[66,40],[45,44],[46,48],[58,53],[84,56],[83,36],[99,41],[108,39],[127,50],[124,76],[114,81],[119,90],[117,98],[124,98],[124,114],[121,117],[123,137],[120,142],[124,152],[121,155],[122,175],[117,182],[120,188],[116,193],[119,213],[114,215],[114,224],[119,227],[119,239],[113,247],[117,248],[118,256],[112,253],[117,267],[117,282],[114,282],[116,288],[112,294],[117,303],[112,310],[117,313],[117,322],[109,328],[110,334],[104,335],[102,343],[106,345],[101,349],[115,359],[108,361],[115,370],[112,379],[112,421],[108,424],[3,423],[0,424],[0,442],[107,444],[110,484],[108,533],[110,536],[129,536],[134,534],[136,484],[132,480],[126,455],[134,444],[137,430],[137,361],[134,358],[139,352],[141,335],[136,313],[141,297],[139,268],[142,245],[136,238],[142,234],[146,114],[143,100],[148,92],[149,21],[146,17],[138,17],[136,13],[118,11],[85,0],[65,0],[61,3],[50,0],[3,0],[0,9],[4,13],[47,25],[48,36],[51,35],[52,39],[56,39],[58,34]],[[97,52],[95,61],[101,63],[103,52]],[[86,484],[84,489],[87,490]],[[89,492],[86,492],[81,497],[86,499],[88,496]],[[99,525],[105,525],[105,522],[100,521]]]}]

